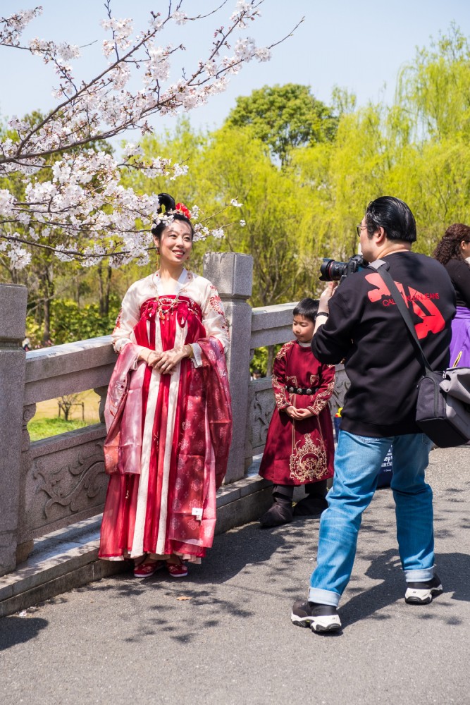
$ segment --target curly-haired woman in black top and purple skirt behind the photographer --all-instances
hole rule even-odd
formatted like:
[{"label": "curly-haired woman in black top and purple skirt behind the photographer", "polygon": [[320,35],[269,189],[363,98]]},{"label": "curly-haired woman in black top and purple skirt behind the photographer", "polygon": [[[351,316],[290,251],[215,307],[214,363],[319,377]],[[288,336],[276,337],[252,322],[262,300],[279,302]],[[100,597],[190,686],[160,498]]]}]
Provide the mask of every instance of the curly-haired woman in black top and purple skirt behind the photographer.
[{"label": "curly-haired woman in black top and purple skirt behind the photographer", "polygon": [[445,266],[457,298],[452,321],[451,367],[470,367],[470,227],[454,223],[435,248],[435,259]]}]

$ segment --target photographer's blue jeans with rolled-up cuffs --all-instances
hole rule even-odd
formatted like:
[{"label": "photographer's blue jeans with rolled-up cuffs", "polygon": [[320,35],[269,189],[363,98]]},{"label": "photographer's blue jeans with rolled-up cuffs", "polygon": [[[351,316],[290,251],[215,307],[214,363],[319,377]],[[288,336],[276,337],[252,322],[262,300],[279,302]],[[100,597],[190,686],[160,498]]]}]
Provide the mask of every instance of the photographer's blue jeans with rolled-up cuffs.
[{"label": "photographer's blue jeans with rolled-up cuffs", "polygon": [[405,580],[424,582],[433,577],[433,492],[424,482],[431,441],[423,434],[376,439],[340,431],[333,488],[326,497],[328,508],[321,515],[309,601],[338,606],[351,577],[362,513],[376,491],[390,446],[391,487]]}]

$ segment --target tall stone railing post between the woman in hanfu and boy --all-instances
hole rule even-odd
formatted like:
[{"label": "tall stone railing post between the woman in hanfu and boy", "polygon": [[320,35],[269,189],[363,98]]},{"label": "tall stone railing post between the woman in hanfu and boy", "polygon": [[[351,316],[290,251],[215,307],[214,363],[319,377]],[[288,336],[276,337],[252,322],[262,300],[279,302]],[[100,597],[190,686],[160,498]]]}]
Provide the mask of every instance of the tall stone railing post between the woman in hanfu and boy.
[{"label": "tall stone railing post between the woman in hanfu and boy", "polygon": [[208,252],[204,255],[204,276],[217,288],[230,326],[227,355],[228,379],[232,395],[233,441],[225,482],[245,475],[245,429],[248,411],[248,384],[252,308],[253,258],[237,252]]}]

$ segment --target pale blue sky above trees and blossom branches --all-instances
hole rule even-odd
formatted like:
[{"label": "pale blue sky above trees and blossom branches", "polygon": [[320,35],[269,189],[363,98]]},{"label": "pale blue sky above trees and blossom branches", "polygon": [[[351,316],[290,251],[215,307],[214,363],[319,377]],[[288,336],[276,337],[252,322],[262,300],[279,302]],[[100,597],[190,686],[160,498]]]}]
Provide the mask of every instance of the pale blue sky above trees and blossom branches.
[{"label": "pale blue sky above trees and blossom branches", "polygon": [[[38,0],[40,1],[40,0]],[[206,12],[221,0],[187,0],[183,9],[190,14]],[[6,16],[18,8],[32,7],[27,0],[1,0],[0,14]],[[75,75],[89,78],[105,65],[101,54],[103,30],[99,19],[104,17],[101,0],[42,0],[44,13],[35,20],[26,37],[38,36],[74,44],[87,44],[84,58],[73,63]],[[211,30],[226,23],[235,0],[229,0],[216,18],[182,28],[173,26],[173,34],[165,42],[187,47],[185,55],[173,61],[176,78],[180,68],[191,68],[204,58],[211,44]],[[164,11],[168,3],[162,0],[113,0],[113,15],[132,17],[135,29],[144,28],[150,10]],[[263,85],[287,82],[311,86],[314,95],[328,102],[334,85],[357,94],[359,105],[369,100],[392,100],[397,73],[414,58],[416,47],[429,45],[430,37],[447,32],[456,23],[465,35],[470,35],[470,0],[265,0],[262,17],[248,32],[258,45],[283,37],[299,19],[304,23],[273,53],[267,63],[252,61],[230,82],[229,90],[214,97],[207,106],[191,112],[194,127],[214,128],[221,125],[238,95],[247,95]],[[51,68],[42,65],[27,52],[0,47],[0,114],[22,116],[32,109],[46,110],[54,106],[51,87],[56,77]],[[174,118],[154,119],[154,126],[171,127]]]}]

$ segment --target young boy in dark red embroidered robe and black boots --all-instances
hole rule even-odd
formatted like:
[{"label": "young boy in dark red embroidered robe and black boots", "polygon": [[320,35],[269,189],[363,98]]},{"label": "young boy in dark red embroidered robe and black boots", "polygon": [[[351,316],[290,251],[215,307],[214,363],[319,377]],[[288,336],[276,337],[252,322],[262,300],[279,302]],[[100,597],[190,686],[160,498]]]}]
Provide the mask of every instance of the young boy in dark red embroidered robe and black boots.
[{"label": "young boy in dark red embroidered robe and black boots", "polygon": [[[273,482],[273,505],[261,525],[287,524],[293,516],[318,515],[326,509],[326,481],[333,477],[334,441],[328,399],[335,384],[334,365],[311,352],[318,303],[302,299],[294,309],[295,341],[285,343],[273,365],[276,408],[269,424],[259,474]],[[294,487],[307,497],[292,510]]]}]

